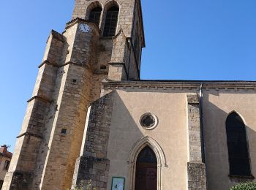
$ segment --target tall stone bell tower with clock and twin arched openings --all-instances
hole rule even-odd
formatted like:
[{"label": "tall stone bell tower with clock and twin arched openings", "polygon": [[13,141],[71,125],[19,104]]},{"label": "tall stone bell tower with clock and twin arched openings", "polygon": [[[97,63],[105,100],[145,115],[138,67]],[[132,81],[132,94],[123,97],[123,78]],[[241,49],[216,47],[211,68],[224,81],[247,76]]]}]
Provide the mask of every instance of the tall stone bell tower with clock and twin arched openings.
[{"label": "tall stone bell tower with clock and twin arched openings", "polygon": [[102,80],[139,80],[140,0],[76,0],[51,31],[3,189],[70,189],[87,108]]}]

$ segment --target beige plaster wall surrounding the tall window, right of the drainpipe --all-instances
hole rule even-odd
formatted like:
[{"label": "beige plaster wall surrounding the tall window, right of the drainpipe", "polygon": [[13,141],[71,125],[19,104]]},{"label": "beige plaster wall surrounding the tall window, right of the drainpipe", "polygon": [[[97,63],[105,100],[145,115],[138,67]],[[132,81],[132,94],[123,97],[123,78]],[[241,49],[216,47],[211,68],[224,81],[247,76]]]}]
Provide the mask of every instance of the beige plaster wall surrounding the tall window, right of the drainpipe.
[{"label": "beige plaster wall surrounding the tall window, right of the drainpipe", "polygon": [[235,110],[246,124],[252,175],[256,176],[256,94],[255,91],[203,91],[203,127],[206,146],[208,190],[228,190],[238,183],[229,178],[225,121]]}]

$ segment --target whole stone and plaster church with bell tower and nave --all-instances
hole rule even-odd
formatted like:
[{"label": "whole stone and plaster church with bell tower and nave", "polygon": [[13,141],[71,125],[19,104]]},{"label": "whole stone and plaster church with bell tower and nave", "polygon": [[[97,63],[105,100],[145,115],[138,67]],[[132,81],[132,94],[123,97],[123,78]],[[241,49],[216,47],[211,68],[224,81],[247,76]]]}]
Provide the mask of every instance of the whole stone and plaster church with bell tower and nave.
[{"label": "whole stone and plaster church with bell tower and nave", "polygon": [[255,181],[256,82],[140,80],[143,47],[140,0],[75,0],[48,37],[2,189]]}]

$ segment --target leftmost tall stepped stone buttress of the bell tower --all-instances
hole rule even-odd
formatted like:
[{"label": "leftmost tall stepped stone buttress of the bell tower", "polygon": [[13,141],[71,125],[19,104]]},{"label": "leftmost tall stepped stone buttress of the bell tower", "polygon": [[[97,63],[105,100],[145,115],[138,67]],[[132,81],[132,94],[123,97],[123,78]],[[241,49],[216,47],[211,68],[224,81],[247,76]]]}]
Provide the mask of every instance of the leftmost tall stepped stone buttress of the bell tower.
[{"label": "leftmost tall stepped stone buttress of the bell tower", "polygon": [[[3,189],[31,189],[36,170],[39,147],[43,138],[45,115],[48,113],[55,86],[55,77],[64,37],[51,31],[42,64],[39,66],[37,82],[12,156],[10,170],[4,180]],[[50,61],[45,60],[48,58]]]}]

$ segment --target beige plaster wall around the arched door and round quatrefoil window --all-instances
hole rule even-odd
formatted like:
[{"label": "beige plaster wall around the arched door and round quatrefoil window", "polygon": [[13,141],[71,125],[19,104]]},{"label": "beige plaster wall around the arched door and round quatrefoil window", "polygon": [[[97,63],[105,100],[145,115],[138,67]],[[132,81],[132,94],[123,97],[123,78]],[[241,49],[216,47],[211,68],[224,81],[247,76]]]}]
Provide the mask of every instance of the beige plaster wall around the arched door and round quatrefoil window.
[{"label": "beige plaster wall around the arched door and round quatrefoil window", "polygon": [[[117,90],[108,144],[108,189],[113,176],[124,177],[125,189],[129,189],[129,153],[135,142],[146,136],[156,140],[166,156],[167,167],[162,166],[162,189],[187,188],[186,97],[186,93]],[[144,113],[157,115],[159,123],[155,129],[140,126],[140,116]]]}]

